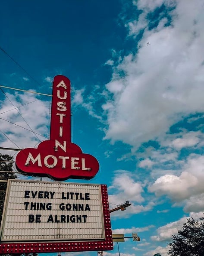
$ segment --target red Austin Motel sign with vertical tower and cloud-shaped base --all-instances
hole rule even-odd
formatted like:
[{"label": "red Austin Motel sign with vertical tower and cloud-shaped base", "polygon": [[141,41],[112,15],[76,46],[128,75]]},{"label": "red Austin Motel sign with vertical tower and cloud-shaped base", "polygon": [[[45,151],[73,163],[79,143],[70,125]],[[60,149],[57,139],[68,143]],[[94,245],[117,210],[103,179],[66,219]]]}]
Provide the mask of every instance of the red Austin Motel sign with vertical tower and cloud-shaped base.
[{"label": "red Austin Motel sign with vertical tower and cloud-shaped base", "polygon": [[58,181],[91,179],[97,174],[97,159],[71,143],[70,81],[65,76],[57,75],[53,81],[50,140],[41,142],[37,149],[22,149],[16,156],[16,168],[26,175]]}]

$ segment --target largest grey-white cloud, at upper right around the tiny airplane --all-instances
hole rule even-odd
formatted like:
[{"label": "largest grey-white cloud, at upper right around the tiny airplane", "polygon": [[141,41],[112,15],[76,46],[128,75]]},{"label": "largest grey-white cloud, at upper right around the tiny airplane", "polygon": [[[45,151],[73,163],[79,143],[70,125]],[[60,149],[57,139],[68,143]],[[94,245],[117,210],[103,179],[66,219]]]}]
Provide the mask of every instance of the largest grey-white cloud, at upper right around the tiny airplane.
[{"label": "largest grey-white cloud, at upper right around the tiny airplane", "polygon": [[[172,19],[161,19],[149,30],[143,21],[163,3]],[[143,12],[138,20],[135,16],[126,24],[129,36],[137,36],[141,29],[144,33],[138,52],[118,59],[106,85],[111,97],[104,110],[108,116],[106,138],[139,146],[164,136],[183,116],[203,111],[204,16],[202,0],[139,0],[134,4]],[[196,143],[196,139],[184,138],[173,146]]]}]

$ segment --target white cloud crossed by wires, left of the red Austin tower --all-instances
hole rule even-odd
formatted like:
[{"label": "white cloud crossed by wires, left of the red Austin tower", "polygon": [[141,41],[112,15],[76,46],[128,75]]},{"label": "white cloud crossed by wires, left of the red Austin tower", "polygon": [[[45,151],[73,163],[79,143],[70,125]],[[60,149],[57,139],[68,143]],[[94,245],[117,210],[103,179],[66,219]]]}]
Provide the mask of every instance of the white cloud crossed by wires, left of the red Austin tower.
[{"label": "white cloud crossed by wires, left of the red Austin tower", "polygon": [[[14,106],[21,106],[17,108],[17,110],[13,107],[13,105],[4,98],[0,100],[0,107],[1,113],[1,131],[5,133],[6,136],[1,134],[0,145],[3,147],[11,147],[16,148],[16,145],[19,148],[26,148],[28,146],[34,147],[37,143],[39,143],[39,139],[46,140],[46,138],[38,135],[41,134],[43,136],[47,136],[47,127],[50,126],[48,123],[48,116],[49,116],[49,107],[47,101],[38,100],[34,94],[6,94],[9,99],[12,101]],[[9,111],[10,110],[10,111]],[[25,120],[23,120],[25,119]],[[15,123],[11,124],[9,122]],[[26,121],[26,122],[25,122]],[[35,135],[32,131],[29,132],[28,130],[23,129],[25,127],[28,130],[33,130],[34,132],[38,133]],[[30,126],[30,127],[29,127]],[[39,139],[38,139],[38,138]],[[14,145],[11,140],[16,144]]]}]

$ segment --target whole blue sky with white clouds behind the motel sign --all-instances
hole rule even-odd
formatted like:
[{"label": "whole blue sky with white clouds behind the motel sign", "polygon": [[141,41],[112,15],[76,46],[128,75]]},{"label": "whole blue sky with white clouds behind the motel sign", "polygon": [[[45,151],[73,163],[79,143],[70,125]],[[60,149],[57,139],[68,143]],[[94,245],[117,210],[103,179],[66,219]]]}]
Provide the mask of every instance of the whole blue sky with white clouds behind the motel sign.
[{"label": "whole blue sky with white clouds behind the motel sign", "polygon": [[[1,3],[0,47],[27,73],[0,51],[0,84],[51,94],[55,75],[70,79],[72,142],[100,162],[87,182],[108,185],[110,207],[132,202],[111,214],[113,233],[141,237],[121,256],[167,256],[186,217],[204,212],[203,11],[202,0]],[[3,91],[47,137],[50,97]],[[9,123],[29,129],[9,100],[0,91],[0,146],[37,146]]]}]

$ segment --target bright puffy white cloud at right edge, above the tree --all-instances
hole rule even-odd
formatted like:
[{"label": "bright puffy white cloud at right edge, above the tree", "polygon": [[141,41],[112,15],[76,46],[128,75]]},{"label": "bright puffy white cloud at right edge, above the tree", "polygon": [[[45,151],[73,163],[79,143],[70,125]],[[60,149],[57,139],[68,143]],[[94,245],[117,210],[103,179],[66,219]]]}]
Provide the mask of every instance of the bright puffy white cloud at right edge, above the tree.
[{"label": "bright puffy white cloud at right edge, above the tree", "polygon": [[180,175],[163,175],[149,186],[157,196],[167,195],[175,203],[183,201],[185,211],[204,211],[204,156],[191,154]]}]

